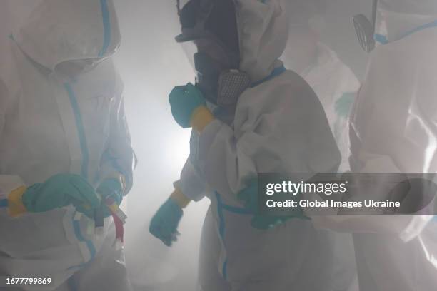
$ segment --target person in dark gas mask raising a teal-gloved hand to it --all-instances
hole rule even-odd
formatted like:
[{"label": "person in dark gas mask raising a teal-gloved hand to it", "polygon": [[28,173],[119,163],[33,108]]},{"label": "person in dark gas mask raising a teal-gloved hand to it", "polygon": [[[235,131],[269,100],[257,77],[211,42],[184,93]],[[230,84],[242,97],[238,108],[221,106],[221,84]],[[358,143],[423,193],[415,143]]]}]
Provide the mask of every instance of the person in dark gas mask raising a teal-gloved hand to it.
[{"label": "person in dark gas mask raising a teal-gloved hand to it", "polygon": [[207,196],[201,290],[331,290],[329,232],[299,219],[268,228],[237,198],[257,173],[336,172],[341,160],[316,94],[278,60],[284,2],[189,1],[179,17],[176,41],[196,45],[197,78],[169,101],[176,121],[194,128],[191,153],[150,232],[171,245],[182,208]]}]

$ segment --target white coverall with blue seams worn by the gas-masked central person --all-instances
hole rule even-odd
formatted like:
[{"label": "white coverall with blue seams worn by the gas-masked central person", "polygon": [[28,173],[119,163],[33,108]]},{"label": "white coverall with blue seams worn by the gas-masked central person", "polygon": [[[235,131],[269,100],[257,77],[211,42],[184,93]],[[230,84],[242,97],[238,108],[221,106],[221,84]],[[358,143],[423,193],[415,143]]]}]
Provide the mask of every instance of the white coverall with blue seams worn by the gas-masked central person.
[{"label": "white coverall with blue seams worn by the gas-masked central person", "polygon": [[[176,186],[211,206],[201,242],[201,290],[331,290],[331,234],[311,221],[270,230],[251,227],[236,199],[256,173],[319,173],[338,169],[336,142],[316,94],[277,58],[288,36],[279,0],[236,0],[241,71],[252,88],[238,99],[233,121],[216,114],[198,136]],[[215,111],[216,113],[217,111]],[[232,118],[233,117],[233,118]],[[221,279],[224,278],[225,280]]]}]

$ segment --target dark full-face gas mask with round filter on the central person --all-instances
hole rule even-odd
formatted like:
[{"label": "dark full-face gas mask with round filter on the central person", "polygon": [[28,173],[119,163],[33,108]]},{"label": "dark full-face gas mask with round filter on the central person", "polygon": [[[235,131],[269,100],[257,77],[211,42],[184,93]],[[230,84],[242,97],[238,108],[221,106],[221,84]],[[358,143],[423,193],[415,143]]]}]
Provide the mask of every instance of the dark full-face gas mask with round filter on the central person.
[{"label": "dark full-face gas mask with round filter on the central person", "polygon": [[238,70],[233,0],[191,0],[182,9],[178,3],[178,10],[182,34],[175,39],[196,70],[195,86],[207,101],[233,106],[251,85],[248,74]]}]

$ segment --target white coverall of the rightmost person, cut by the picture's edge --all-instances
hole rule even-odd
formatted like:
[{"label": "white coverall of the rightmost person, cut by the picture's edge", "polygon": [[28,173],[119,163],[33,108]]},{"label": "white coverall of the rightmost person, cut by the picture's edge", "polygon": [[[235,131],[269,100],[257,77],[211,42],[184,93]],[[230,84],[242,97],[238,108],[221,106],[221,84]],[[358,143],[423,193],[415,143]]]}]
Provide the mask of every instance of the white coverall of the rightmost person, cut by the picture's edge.
[{"label": "white coverall of the rightmost person, cut by the picture's edge", "polygon": [[[436,20],[436,1],[379,1],[376,39],[383,44],[371,53],[351,115],[353,172],[437,172]],[[313,222],[354,233],[361,291],[428,291],[437,286],[431,219],[315,216]]]}]

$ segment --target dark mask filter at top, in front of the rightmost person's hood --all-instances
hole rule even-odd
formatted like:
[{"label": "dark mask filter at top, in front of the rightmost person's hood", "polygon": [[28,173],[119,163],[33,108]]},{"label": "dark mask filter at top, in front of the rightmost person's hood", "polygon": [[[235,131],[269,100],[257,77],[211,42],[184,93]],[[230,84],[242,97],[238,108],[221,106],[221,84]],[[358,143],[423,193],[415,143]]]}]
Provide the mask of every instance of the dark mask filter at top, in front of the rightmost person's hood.
[{"label": "dark mask filter at top, in front of the rightmost person's hood", "polygon": [[372,20],[370,21],[363,14],[353,16],[353,26],[355,26],[356,36],[358,41],[366,53],[370,53],[375,48],[375,24],[376,24],[376,9],[378,0],[373,0]]}]

